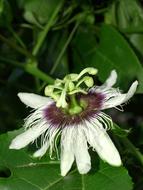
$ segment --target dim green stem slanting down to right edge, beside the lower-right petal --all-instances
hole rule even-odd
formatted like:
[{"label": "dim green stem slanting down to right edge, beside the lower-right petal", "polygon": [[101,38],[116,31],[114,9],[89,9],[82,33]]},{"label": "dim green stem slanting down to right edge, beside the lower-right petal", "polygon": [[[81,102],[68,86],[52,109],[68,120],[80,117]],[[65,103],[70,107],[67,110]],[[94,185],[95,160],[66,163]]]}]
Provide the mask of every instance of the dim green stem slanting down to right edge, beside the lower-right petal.
[{"label": "dim green stem slanting down to right edge, beside the lower-right petal", "polygon": [[139,160],[139,162],[143,165],[143,155],[142,153],[132,144],[132,142],[128,138],[120,138],[123,144],[131,150],[134,156]]}]

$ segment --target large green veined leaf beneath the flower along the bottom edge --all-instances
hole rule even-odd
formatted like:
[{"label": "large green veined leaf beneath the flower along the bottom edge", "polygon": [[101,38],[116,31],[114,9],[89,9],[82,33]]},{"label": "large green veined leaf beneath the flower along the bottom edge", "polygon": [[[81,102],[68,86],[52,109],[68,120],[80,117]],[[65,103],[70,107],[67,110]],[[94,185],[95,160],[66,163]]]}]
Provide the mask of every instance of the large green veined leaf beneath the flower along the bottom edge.
[{"label": "large green veined leaf beneath the flower along the bottom edge", "polygon": [[[66,177],[60,176],[56,161],[33,159],[26,149],[9,150],[8,146],[21,130],[0,136],[0,177],[2,190],[131,190],[132,181],[123,167],[111,167],[103,162],[94,165],[87,175],[72,170]],[[96,168],[96,171],[95,171]],[[9,171],[8,171],[9,170]],[[9,176],[9,173],[11,175]]]}]

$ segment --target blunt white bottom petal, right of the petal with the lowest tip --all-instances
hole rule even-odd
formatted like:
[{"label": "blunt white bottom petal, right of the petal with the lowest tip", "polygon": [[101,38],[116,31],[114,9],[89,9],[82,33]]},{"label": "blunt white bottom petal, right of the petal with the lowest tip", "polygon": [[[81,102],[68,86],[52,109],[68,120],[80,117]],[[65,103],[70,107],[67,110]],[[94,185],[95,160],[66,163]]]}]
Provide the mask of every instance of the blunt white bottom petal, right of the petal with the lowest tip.
[{"label": "blunt white bottom petal, right of the petal with the lowest tip", "polygon": [[91,159],[88,153],[87,140],[82,132],[82,126],[77,127],[79,130],[75,141],[74,153],[79,173],[86,174],[91,169]]}]

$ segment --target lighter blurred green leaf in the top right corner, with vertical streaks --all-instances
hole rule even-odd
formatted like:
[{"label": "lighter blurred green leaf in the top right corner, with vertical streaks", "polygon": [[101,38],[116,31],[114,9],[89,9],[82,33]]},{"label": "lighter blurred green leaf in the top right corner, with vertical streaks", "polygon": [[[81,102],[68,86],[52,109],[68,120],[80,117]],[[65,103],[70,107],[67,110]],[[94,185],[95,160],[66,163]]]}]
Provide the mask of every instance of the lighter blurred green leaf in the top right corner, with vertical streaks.
[{"label": "lighter blurred green leaf in the top right corner, with vertical streaks", "polygon": [[138,0],[114,1],[104,17],[105,23],[114,24],[120,30],[143,31],[143,10]]}]

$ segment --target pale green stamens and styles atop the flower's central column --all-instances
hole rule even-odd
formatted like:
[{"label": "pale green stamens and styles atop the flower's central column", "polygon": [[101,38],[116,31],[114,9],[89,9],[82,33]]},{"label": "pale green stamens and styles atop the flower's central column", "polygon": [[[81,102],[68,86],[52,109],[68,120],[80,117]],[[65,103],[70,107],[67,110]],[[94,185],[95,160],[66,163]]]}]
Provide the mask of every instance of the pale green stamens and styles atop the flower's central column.
[{"label": "pale green stamens and styles atop the flower's central column", "polygon": [[[69,108],[71,115],[82,112],[82,106],[77,103],[76,95],[87,94],[89,88],[94,85],[93,76],[97,69],[88,67],[79,74],[68,74],[62,80],[56,79],[53,85],[45,88],[45,95],[50,96],[59,108]],[[86,74],[86,75],[85,75]],[[88,76],[90,75],[90,76]],[[70,107],[67,99],[70,98]]]}]

